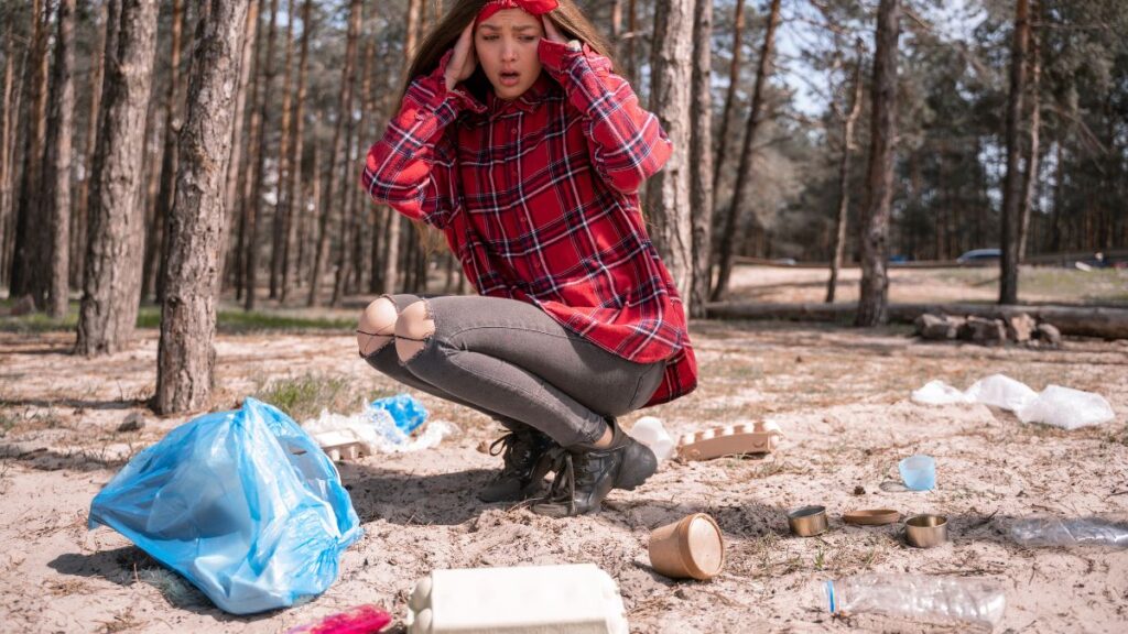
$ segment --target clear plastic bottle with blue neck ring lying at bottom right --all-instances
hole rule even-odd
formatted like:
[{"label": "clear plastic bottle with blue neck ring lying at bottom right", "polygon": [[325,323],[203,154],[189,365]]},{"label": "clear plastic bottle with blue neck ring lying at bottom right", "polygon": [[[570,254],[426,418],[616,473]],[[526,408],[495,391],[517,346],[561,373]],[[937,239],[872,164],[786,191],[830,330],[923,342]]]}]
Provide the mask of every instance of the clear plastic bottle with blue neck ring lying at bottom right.
[{"label": "clear plastic bottle with blue neck ring lying at bottom right", "polygon": [[863,574],[827,581],[831,613],[881,613],[914,619],[963,622],[993,628],[1006,596],[987,579]]}]

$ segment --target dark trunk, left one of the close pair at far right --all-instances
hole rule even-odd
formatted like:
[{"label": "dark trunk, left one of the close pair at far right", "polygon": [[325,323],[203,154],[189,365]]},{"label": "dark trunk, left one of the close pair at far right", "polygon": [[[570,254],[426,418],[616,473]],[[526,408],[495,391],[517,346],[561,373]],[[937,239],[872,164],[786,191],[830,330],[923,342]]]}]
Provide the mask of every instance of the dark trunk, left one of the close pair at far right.
[{"label": "dark trunk, left one of the close pair at far right", "polygon": [[1026,83],[1026,46],[1030,42],[1030,2],[1017,0],[1014,9],[1014,41],[1011,49],[1011,96],[1006,105],[1006,180],[1003,183],[1003,261],[998,287],[999,303],[1019,301],[1019,245],[1021,241],[1022,97]]}]

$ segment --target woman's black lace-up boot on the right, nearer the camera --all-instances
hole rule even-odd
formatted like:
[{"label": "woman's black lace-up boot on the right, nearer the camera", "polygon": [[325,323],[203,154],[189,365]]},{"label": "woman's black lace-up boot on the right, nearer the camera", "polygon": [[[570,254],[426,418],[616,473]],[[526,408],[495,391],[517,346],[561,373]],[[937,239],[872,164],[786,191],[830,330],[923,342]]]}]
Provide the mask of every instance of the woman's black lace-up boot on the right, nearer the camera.
[{"label": "woman's black lace-up boot on the right, nearer the camera", "polygon": [[658,458],[645,444],[610,422],[615,438],[606,449],[556,449],[549,456],[556,477],[548,495],[531,510],[555,518],[598,511],[613,488],[634,491],[658,470]]}]

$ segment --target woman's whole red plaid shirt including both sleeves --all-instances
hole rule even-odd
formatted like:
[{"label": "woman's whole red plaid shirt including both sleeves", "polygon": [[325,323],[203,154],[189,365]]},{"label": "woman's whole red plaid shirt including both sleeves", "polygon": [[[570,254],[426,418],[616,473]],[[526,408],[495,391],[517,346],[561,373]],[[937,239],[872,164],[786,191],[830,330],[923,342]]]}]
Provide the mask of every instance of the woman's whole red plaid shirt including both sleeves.
[{"label": "woman's whole red plaid shirt including both sleeves", "polygon": [[681,299],[636,193],[670,157],[656,117],[587,46],[541,39],[532,87],[485,105],[447,90],[450,55],[369,151],[369,194],[441,229],[479,294],[534,303],[624,359],[666,361],[647,406],[691,391]]}]

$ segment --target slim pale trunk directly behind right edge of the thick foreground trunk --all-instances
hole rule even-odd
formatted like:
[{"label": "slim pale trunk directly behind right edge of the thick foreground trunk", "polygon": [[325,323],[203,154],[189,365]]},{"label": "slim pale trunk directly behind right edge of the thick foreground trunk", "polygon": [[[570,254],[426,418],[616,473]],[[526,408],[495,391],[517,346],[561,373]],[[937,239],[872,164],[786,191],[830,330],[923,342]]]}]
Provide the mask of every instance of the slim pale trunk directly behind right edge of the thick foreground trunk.
[{"label": "slim pale trunk directly behind right edge of the thick foreground trunk", "polygon": [[[235,123],[231,125],[231,158],[227,164],[227,192],[224,193],[224,205],[223,209],[227,213],[227,221],[223,222],[223,252],[220,254],[220,291],[222,292],[223,283],[227,279],[228,266],[227,258],[228,254],[232,250],[236,255],[236,262],[230,267],[239,276],[241,271],[241,254],[239,252],[238,245],[243,243],[243,214],[240,213],[240,199],[239,192],[243,191],[240,185],[246,179],[246,170],[244,169],[244,140],[243,140],[243,127],[246,121],[247,113],[247,88],[250,85],[250,78],[255,73],[255,51],[257,49],[256,43],[258,41],[258,14],[262,8],[262,0],[252,0],[250,6],[247,7],[247,21],[245,25],[246,37],[243,41],[243,51],[240,53],[239,60],[239,91],[235,98]],[[252,100],[254,105],[254,100]],[[228,245],[228,236],[230,235],[231,227],[235,224],[236,218],[239,219],[239,240],[236,245]],[[241,291],[241,281],[239,282],[239,289]]]}]

